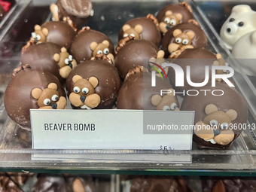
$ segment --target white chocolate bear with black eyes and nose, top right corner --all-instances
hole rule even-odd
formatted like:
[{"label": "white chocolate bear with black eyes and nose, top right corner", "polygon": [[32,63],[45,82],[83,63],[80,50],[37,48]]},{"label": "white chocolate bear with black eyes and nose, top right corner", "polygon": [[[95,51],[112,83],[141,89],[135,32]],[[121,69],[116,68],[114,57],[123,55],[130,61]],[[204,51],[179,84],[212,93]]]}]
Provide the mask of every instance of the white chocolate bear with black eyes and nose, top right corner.
[{"label": "white chocolate bear with black eyes and nose, top right corner", "polygon": [[256,30],[255,17],[256,12],[248,5],[236,5],[232,8],[230,17],[221,26],[221,39],[228,49],[232,50],[242,35]]}]

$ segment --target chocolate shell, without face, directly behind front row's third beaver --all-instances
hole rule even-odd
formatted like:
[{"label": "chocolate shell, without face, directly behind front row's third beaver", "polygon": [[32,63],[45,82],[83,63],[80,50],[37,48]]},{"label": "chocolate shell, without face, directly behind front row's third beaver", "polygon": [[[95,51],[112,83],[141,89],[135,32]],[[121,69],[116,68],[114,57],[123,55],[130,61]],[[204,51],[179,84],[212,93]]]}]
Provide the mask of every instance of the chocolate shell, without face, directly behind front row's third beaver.
[{"label": "chocolate shell, without face, directly behind front row's third beaver", "polygon": [[130,69],[143,66],[143,59],[156,58],[158,48],[150,41],[143,39],[129,41],[117,53],[114,65],[123,79]]}]

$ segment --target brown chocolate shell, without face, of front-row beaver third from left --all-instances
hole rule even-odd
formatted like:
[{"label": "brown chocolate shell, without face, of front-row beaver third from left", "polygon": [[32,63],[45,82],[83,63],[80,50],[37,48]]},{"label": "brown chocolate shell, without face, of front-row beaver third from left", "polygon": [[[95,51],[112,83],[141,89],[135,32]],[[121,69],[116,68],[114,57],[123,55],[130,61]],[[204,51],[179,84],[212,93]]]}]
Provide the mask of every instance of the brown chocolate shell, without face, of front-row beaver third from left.
[{"label": "brown chocolate shell, without face, of front-row beaver third from left", "polygon": [[[156,110],[151,104],[151,97],[160,95],[161,90],[172,89],[172,86],[162,78],[156,76],[156,87],[151,86],[151,73],[142,72],[130,75],[123,82],[117,96],[118,109]],[[175,96],[177,107],[178,99]]]}]

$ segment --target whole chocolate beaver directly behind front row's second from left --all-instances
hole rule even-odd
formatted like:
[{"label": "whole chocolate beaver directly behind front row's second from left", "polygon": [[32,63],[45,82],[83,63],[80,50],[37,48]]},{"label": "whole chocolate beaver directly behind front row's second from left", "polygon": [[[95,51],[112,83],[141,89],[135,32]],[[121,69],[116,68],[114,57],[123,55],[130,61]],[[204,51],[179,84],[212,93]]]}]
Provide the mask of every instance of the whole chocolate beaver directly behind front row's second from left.
[{"label": "whole chocolate beaver directly behind front row's second from left", "polygon": [[75,36],[70,47],[70,53],[78,63],[90,60],[99,53],[104,53],[113,60],[114,46],[111,40],[102,32],[86,27]]}]

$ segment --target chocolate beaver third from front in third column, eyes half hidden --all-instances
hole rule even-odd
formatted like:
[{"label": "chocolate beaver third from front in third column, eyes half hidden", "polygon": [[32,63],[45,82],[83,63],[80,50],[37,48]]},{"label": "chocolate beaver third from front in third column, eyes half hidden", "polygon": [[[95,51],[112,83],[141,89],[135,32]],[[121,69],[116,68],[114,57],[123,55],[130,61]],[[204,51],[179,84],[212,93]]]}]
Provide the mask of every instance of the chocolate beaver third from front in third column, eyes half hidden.
[{"label": "chocolate beaver third from front in third column, eyes half hidden", "polygon": [[160,45],[161,35],[156,24],[147,17],[139,17],[127,21],[120,29],[118,40],[131,35],[135,39],[144,39],[151,41],[157,47]]}]

